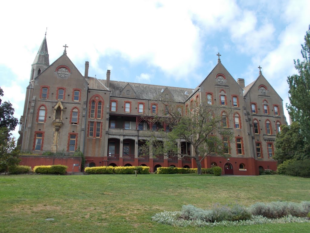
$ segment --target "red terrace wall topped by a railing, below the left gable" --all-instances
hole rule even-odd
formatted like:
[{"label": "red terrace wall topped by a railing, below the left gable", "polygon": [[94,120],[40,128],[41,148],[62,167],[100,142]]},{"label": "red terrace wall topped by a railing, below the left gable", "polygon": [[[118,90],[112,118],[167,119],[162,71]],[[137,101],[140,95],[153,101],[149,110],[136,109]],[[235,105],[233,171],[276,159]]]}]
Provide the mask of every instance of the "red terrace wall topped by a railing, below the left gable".
[{"label": "red terrace wall topped by a railing, below the left gable", "polygon": [[68,166],[67,171],[79,171],[79,167],[73,167],[73,164],[81,166],[81,157],[53,157],[53,156],[35,156],[35,155],[22,155],[20,165],[27,165],[33,169],[34,166],[40,165],[65,165]]}]

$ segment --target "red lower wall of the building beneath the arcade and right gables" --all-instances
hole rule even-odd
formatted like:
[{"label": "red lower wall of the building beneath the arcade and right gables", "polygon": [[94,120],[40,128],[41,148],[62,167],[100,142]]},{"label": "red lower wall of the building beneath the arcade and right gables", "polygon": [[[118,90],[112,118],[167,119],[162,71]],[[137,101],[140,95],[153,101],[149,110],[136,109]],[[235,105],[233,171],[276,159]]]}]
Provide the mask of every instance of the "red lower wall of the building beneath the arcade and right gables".
[{"label": "red lower wall of the building beneath the arcade and right gables", "polygon": [[[207,156],[204,160],[201,161],[201,166],[203,168],[211,167],[211,163],[215,162],[217,166],[222,168],[222,174],[225,175],[224,165],[229,162],[233,167],[233,175],[246,175],[246,176],[258,176],[259,175],[259,166],[262,166],[264,169],[277,170],[277,162],[276,161],[257,161],[254,158],[229,158],[229,161],[223,157],[213,157]],[[149,159],[149,161],[138,160],[135,158],[134,160],[125,160],[123,158],[119,158],[118,160],[108,160],[107,157],[86,157],[86,165],[94,163],[94,166],[109,166],[111,164],[115,164],[116,166],[125,166],[126,164],[130,164],[131,166],[140,166],[145,164],[150,167],[150,172],[154,172],[155,167],[169,167],[174,165],[175,167],[184,167],[188,166],[190,168],[197,168],[196,161],[194,159],[190,161],[169,161],[164,159],[163,161],[157,161],[156,159]],[[245,170],[240,170],[240,163],[244,164]]]}]

